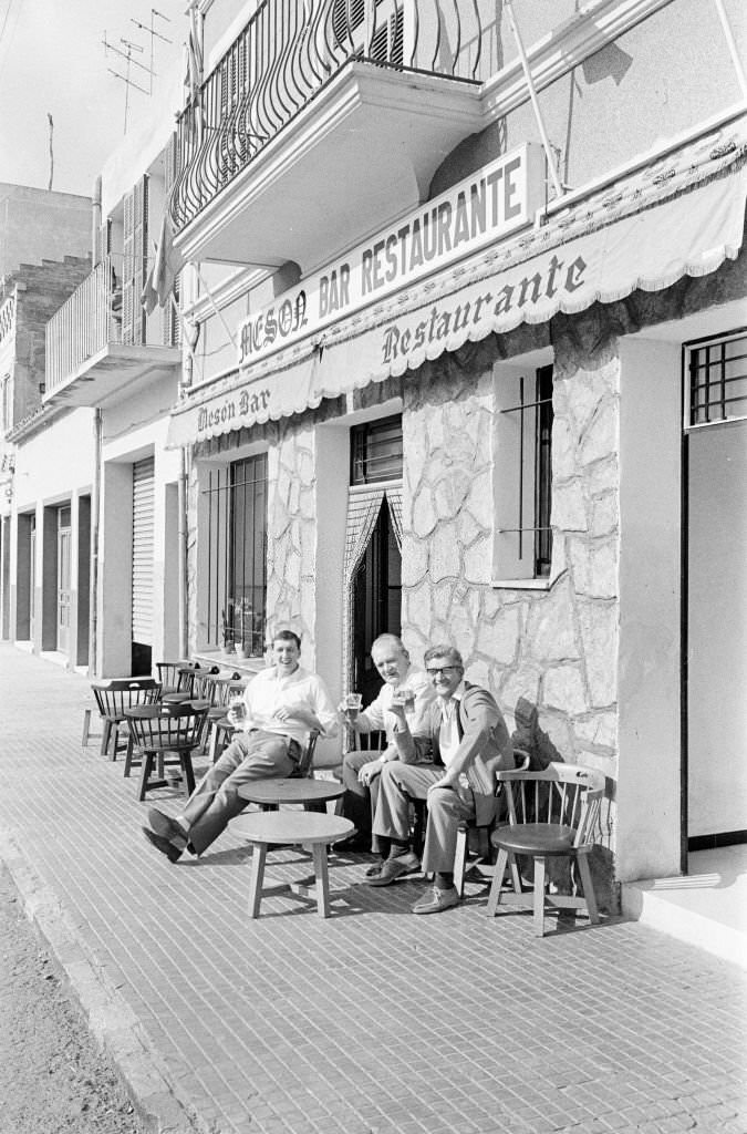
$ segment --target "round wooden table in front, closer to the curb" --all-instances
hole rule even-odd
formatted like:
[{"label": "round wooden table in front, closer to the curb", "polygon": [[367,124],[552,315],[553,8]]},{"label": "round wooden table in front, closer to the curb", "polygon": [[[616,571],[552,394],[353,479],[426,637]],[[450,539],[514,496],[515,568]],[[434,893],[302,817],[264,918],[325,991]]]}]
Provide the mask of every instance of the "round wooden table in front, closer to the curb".
[{"label": "round wooden table in front, closer to the curb", "polygon": [[317,814],[313,811],[252,811],[231,821],[231,831],[252,844],[252,881],[249,883],[249,917],[260,916],[262,882],[268,847],[302,846],[312,852],[316,883],[316,911],[330,916],[330,880],[326,848],[355,830],[349,819]]}]

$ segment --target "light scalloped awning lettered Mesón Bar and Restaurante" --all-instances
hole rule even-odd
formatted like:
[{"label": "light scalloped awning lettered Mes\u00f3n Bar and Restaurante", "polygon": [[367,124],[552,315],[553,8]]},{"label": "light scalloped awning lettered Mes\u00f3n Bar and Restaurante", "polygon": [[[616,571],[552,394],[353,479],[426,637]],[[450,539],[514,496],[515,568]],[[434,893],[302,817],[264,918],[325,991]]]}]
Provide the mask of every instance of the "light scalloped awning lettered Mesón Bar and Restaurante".
[{"label": "light scalloped awning lettered Mes\u00f3n Bar and Restaurante", "polygon": [[741,248],[746,155],[744,125],[701,138],[542,228],[195,390],[172,411],[169,445],[303,413],[468,340],[714,272]]}]

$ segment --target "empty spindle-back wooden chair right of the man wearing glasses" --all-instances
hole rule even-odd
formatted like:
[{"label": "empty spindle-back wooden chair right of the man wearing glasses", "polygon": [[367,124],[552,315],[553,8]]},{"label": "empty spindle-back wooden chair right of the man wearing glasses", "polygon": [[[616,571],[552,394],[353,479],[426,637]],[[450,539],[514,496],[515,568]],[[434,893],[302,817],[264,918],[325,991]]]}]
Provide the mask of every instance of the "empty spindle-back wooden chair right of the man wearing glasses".
[{"label": "empty spindle-back wooden chair right of the man wearing glasses", "polygon": [[[589,921],[597,924],[587,857],[602,806],[604,776],[576,764],[551,763],[544,771],[498,772],[498,780],[506,788],[509,822],[491,836],[498,847],[498,863],[487,900],[489,916],[495,915],[500,903],[532,905],[537,937],[544,937],[545,904],[560,909],[585,909]],[[523,891],[517,856],[526,856],[534,864],[532,897]],[[558,857],[578,864],[583,896],[545,892],[547,860]],[[503,890],[507,865],[512,891]]]}]

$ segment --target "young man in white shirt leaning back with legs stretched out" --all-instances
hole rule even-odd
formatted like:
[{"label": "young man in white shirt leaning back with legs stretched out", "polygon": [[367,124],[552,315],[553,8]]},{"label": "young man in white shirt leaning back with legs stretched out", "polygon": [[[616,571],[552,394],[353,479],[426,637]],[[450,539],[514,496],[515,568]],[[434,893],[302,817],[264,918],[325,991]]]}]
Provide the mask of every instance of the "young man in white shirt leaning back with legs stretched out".
[{"label": "young man in white shirt leaning back with legs stretched out", "polygon": [[338,718],[326,685],[316,674],[302,669],[300,638],[292,631],[279,631],[272,642],[273,665],[247,685],[244,702],[247,719],[241,731],[189,796],[180,815],[171,819],[151,807],[143,833],[169,862],[185,849],[202,854],[223,831],[230,819],[247,806],[238,788],[254,779],[291,776],[309,731],[334,736]]}]

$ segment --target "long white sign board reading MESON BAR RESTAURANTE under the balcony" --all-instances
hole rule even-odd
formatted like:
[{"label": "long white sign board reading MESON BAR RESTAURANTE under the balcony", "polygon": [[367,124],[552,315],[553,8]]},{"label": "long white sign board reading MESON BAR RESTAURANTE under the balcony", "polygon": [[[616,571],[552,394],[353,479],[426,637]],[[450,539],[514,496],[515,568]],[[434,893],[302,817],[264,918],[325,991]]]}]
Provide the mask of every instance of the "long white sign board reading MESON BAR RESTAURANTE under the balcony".
[{"label": "long white sign board reading MESON BAR RESTAURANTE under the balcony", "polygon": [[502,154],[246,319],[239,367],[502,240],[532,222],[543,195],[541,147]]}]

